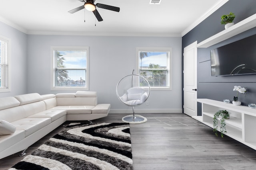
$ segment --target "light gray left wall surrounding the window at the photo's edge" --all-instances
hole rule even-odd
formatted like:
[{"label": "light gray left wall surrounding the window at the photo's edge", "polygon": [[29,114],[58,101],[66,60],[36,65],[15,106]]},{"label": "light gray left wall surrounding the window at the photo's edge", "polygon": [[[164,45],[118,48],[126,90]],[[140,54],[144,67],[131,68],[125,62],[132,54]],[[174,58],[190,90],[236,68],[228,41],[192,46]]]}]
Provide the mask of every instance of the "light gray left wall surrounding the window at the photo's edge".
[{"label": "light gray left wall surrounding the window at the photo's edge", "polygon": [[27,35],[0,22],[0,35],[11,40],[11,92],[2,92],[0,97],[27,92]]}]

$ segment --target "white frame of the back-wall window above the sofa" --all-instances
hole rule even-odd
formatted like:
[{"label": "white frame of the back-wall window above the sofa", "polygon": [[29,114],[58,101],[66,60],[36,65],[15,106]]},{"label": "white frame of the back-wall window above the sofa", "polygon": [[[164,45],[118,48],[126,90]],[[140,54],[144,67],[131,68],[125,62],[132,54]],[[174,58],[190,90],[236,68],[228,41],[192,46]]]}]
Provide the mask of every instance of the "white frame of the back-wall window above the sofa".
[{"label": "white frame of the back-wall window above the sofa", "polygon": [[[85,50],[86,51],[86,87],[58,87],[54,84],[54,51],[55,50],[63,50],[63,51],[76,51],[76,50]],[[89,47],[87,46],[51,46],[51,90],[63,90],[63,91],[69,91],[69,90],[89,90]]]}]

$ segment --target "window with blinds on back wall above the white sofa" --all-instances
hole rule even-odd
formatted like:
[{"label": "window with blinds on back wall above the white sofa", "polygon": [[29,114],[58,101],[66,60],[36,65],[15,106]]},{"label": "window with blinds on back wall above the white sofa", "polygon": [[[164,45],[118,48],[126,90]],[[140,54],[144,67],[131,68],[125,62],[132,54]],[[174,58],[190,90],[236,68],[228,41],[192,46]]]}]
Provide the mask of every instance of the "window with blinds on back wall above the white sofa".
[{"label": "window with blinds on back wall above the white sofa", "polygon": [[89,90],[89,47],[52,47],[52,90]]}]

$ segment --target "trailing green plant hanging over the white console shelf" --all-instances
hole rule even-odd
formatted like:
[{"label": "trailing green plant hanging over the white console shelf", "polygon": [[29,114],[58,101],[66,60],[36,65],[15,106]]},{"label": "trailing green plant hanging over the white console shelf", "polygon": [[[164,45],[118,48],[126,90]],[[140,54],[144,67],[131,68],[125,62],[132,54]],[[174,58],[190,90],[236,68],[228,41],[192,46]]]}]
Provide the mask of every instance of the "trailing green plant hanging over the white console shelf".
[{"label": "trailing green plant hanging over the white console shelf", "polygon": [[218,118],[220,117],[220,135],[221,137],[224,136],[224,133],[226,133],[226,119],[229,119],[230,112],[226,110],[219,110],[214,114],[213,117],[213,131],[215,132],[215,135],[218,136]]}]

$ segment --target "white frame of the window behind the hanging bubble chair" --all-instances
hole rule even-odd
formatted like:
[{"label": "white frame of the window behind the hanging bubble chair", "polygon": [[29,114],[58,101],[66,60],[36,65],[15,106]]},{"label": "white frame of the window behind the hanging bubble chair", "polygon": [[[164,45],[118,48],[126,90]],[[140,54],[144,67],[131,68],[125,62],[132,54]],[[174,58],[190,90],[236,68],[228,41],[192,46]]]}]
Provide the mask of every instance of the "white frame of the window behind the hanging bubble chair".
[{"label": "white frame of the window behind the hanging bubble chair", "polygon": [[136,47],[136,73],[140,70],[140,51],[169,52],[169,86],[150,86],[151,90],[172,90],[172,48],[171,47]]}]

